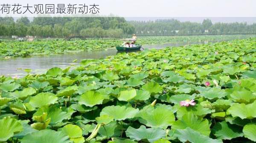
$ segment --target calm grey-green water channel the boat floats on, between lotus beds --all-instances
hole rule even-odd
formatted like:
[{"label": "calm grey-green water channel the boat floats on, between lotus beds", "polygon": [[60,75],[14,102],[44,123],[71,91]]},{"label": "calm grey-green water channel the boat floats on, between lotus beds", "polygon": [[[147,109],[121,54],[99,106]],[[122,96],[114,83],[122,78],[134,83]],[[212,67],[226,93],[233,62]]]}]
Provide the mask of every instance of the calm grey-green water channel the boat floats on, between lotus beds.
[{"label": "calm grey-green water channel the boat floats on, between lotus beds", "polygon": [[[209,42],[220,42],[209,41]],[[208,41],[198,41],[198,42],[179,42],[179,43],[169,43],[160,45],[145,45],[143,48],[147,49],[161,49],[165,47],[177,47],[189,44],[206,44]],[[43,56],[31,56],[27,58],[17,57],[8,60],[0,60],[0,75],[5,76],[23,76],[26,72],[23,69],[32,69],[32,73],[45,73],[45,71],[52,67],[67,67],[70,65],[76,65],[81,59],[99,59],[106,56],[116,55],[116,49],[108,50],[98,50],[98,51],[83,51],[78,53],[66,53],[66,54],[56,54],[56,55],[43,55]],[[77,62],[72,62],[78,59]],[[17,70],[21,68],[22,70]]]}]

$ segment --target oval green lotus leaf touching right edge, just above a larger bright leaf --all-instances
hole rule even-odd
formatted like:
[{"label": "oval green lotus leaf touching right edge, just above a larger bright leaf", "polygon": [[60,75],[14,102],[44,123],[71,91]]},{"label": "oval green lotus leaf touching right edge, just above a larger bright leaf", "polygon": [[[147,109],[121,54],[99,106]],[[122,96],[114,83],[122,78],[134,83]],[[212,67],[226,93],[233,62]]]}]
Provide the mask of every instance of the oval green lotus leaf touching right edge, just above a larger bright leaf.
[{"label": "oval green lotus leaf touching right edge, just above a larger bright leaf", "polygon": [[246,89],[239,89],[231,93],[230,98],[233,101],[247,104],[253,102],[256,99],[256,95]]}]

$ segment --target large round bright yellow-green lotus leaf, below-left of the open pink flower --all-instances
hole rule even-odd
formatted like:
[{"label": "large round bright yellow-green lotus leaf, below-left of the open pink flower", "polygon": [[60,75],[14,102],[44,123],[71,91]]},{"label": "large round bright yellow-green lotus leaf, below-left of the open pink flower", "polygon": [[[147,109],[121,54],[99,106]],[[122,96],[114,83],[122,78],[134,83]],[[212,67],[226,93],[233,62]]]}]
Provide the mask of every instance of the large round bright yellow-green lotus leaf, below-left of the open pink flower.
[{"label": "large round bright yellow-green lotus leaf, below-left of the open pink flower", "polygon": [[140,123],[146,126],[166,129],[175,121],[172,107],[167,105],[153,107],[145,106],[137,115]]}]

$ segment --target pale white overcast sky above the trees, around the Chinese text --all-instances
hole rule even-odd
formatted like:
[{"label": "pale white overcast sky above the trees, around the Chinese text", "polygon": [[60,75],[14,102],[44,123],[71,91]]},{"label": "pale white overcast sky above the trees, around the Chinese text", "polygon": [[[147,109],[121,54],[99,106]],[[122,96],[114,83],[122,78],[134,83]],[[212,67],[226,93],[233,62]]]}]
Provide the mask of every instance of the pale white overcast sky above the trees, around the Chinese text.
[{"label": "pale white overcast sky above the trees, around the Chinese text", "polygon": [[[19,3],[23,6],[27,3],[31,6],[95,3],[99,5],[101,15],[113,14],[121,17],[199,17],[199,21],[201,21],[200,17],[256,17],[256,0],[22,0],[22,2],[21,0],[1,0],[0,4],[3,3]],[[6,14],[0,13],[0,16],[3,17]],[[36,15],[15,15],[15,17],[21,16]],[[194,18],[194,20],[197,19]],[[248,18],[248,20],[255,21],[255,18]]]}]

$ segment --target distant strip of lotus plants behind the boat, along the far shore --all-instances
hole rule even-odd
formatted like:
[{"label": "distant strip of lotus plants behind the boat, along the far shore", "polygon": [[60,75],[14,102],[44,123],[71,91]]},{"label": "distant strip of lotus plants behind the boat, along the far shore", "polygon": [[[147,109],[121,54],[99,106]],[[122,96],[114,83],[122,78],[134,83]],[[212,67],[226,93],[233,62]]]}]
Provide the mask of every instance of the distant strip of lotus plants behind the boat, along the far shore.
[{"label": "distant strip of lotus plants behind the boat, along the far shore", "polygon": [[[151,36],[139,37],[138,43],[142,45],[177,43],[177,42],[198,42],[202,40],[209,41],[227,41],[232,39],[244,39],[255,37],[256,35],[211,35],[211,36]],[[76,41],[34,41],[34,42],[0,42],[0,59],[9,59],[10,57],[27,57],[31,55],[50,55],[79,51],[103,50],[122,42],[119,39],[87,39]]]}]

